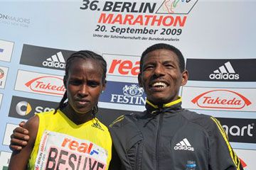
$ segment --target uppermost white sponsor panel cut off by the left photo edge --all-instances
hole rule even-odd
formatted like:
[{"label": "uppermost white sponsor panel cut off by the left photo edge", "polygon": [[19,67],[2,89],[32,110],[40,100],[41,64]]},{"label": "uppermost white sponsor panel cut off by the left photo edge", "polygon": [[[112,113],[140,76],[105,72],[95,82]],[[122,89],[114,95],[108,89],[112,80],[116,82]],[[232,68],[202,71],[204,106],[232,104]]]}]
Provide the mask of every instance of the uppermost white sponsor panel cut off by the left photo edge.
[{"label": "uppermost white sponsor panel cut off by the left photo edge", "polygon": [[0,40],[0,60],[4,62],[10,62],[13,48],[14,42]]}]

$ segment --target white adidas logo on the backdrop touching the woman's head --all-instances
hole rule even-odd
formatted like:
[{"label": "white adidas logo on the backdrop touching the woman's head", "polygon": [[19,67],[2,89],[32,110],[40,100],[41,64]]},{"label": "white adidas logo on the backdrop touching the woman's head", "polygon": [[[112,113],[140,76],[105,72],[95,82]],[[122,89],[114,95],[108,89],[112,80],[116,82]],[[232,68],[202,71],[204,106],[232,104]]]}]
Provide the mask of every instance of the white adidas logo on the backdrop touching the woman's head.
[{"label": "white adidas logo on the backdrop touching the woman's head", "polygon": [[65,60],[62,52],[57,52],[56,55],[52,55],[50,58],[43,62],[43,66],[65,68]]}]

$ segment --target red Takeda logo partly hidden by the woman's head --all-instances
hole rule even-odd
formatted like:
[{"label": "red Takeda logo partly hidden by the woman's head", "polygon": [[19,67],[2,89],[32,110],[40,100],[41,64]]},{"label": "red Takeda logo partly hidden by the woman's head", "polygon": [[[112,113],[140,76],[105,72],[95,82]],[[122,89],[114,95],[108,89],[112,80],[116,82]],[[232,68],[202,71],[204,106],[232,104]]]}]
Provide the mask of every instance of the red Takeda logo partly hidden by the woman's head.
[{"label": "red Takeda logo partly hidden by the woman's head", "polygon": [[38,77],[28,81],[25,85],[32,91],[42,94],[55,94],[63,96],[65,93],[63,79],[60,79],[59,77]]}]

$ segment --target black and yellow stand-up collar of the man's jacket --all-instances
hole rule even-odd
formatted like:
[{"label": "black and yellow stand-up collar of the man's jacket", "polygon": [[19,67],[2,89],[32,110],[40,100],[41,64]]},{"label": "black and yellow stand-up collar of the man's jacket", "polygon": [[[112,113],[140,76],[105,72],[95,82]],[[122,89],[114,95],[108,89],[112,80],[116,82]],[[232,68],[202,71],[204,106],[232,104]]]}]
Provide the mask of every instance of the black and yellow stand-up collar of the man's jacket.
[{"label": "black and yellow stand-up collar of the man's jacket", "polygon": [[154,105],[150,101],[146,100],[146,111],[151,114],[166,112],[171,110],[181,109],[181,97],[179,96],[176,101],[171,101],[170,103],[164,103],[163,106],[159,107]]}]

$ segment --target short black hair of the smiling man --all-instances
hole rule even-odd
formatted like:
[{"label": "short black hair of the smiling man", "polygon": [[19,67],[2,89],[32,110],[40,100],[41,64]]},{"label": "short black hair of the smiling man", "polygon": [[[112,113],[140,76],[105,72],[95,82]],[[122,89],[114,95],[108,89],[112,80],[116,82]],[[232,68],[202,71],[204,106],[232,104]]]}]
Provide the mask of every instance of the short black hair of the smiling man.
[{"label": "short black hair of the smiling man", "polygon": [[144,60],[144,57],[149,53],[152,52],[154,50],[170,50],[172,52],[174,52],[177,56],[178,56],[178,67],[181,70],[181,72],[183,72],[185,70],[185,60],[184,57],[181,53],[180,50],[178,50],[178,48],[174,47],[173,45],[169,45],[169,44],[165,44],[165,43],[158,43],[158,44],[154,44],[151,45],[150,47],[146,48],[146,50],[144,50],[144,52],[142,52],[142,57],[140,60],[140,64],[139,64],[139,71],[142,72],[142,62]]}]

